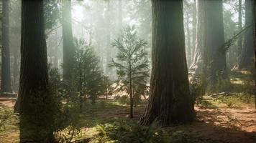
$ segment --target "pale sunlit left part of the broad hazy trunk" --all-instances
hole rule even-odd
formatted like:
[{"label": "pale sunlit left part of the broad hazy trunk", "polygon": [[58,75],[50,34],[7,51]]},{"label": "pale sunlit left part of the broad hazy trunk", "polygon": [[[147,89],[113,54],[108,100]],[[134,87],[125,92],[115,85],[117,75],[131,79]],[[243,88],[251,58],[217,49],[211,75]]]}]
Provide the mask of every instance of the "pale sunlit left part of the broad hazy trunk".
[{"label": "pale sunlit left part of the broad hazy trunk", "polygon": [[190,70],[194,71],[196,75],[201,75],[204,69],[204,52],[205,52],[205,1],[198,0],[197,6],[197,22],[196,22],[196,43],[193,54],[193,62]]}]

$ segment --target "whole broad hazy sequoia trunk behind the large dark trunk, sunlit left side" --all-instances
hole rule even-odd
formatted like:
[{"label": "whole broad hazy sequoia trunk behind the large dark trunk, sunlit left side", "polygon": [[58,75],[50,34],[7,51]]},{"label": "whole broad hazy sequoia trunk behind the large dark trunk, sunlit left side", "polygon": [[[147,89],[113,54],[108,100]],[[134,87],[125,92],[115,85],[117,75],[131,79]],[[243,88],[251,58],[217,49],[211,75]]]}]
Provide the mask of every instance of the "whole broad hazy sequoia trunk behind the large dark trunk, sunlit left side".
[{"label": "whole broad hazy sequoia trunk behind the large dark trunk, sunlit left side", "polygon": [[196,49],[190,68],[206,77],[209,89],[228,79],[222,11],[221,0],[198,1]]}]

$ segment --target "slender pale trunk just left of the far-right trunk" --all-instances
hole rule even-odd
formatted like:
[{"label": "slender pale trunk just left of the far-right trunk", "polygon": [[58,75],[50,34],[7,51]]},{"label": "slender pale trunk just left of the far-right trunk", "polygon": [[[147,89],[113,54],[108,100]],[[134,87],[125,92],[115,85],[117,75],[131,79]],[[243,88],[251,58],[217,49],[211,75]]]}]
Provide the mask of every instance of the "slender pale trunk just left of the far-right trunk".
[{"label": "slender pale trunk just left of the far-right trunk", "polygon": [[[238,30],[242,30],[242,0],[239,0],[238,4]],[[239,38],[237,40],[237,63],[239,62],[239,59],[241,58],[242,52],[242,35],[239,35]]]}]

